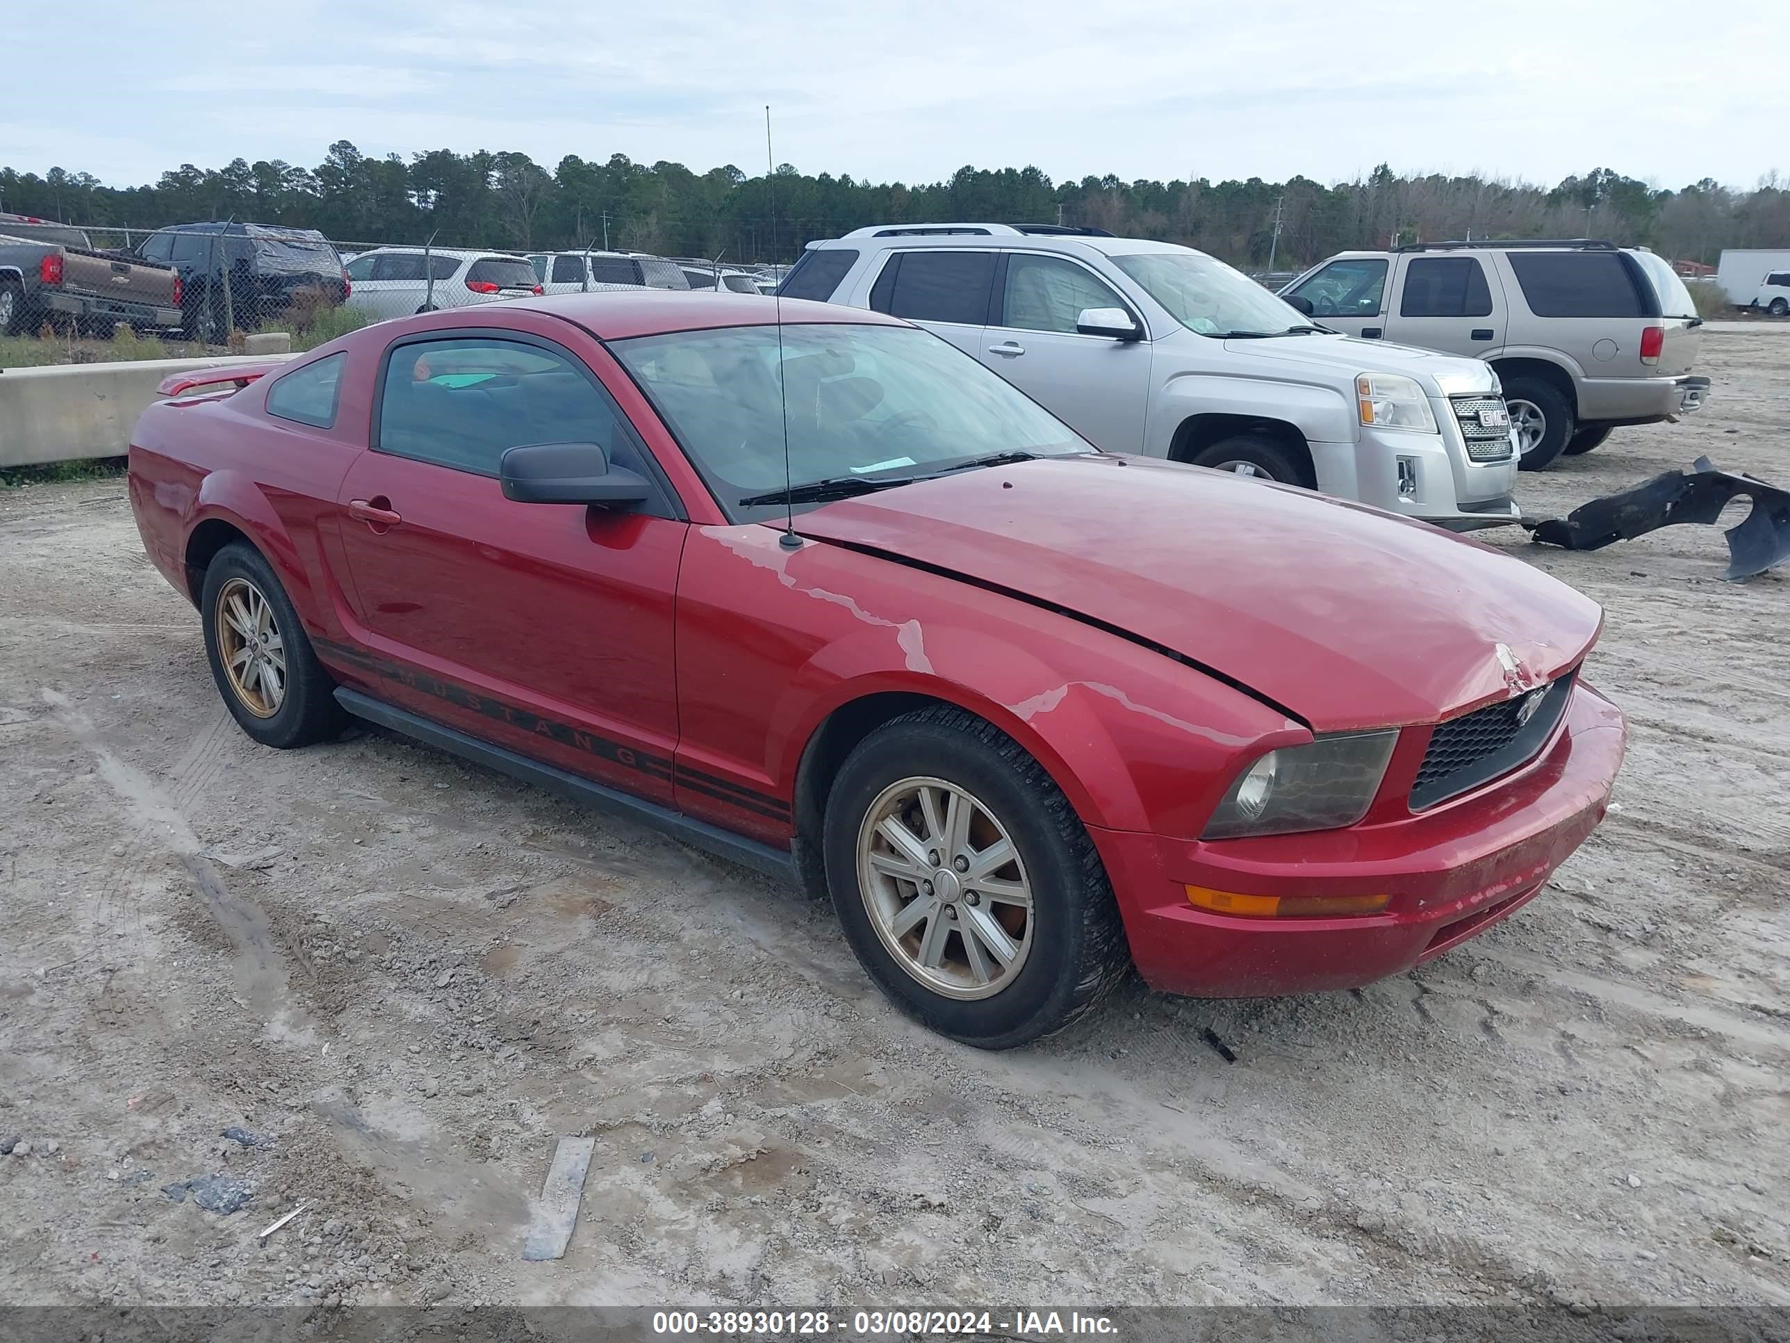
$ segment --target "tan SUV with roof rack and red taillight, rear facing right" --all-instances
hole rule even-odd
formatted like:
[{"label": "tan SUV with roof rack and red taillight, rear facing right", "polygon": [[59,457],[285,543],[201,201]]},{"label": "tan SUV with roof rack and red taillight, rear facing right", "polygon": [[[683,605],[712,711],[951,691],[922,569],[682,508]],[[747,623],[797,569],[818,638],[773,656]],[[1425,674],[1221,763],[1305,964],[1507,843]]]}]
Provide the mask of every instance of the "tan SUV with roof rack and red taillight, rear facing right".
[{"label": "tan SUV with roof rack and red taillight, rear facing right", "polygon": [[1525,471],[1620,424],[1688,415],[1702,319],[1672,263],[1607,242],[1437,242],[1339,252],[1282,294],[1328,328],[1482,358],[1498,371]]}]

